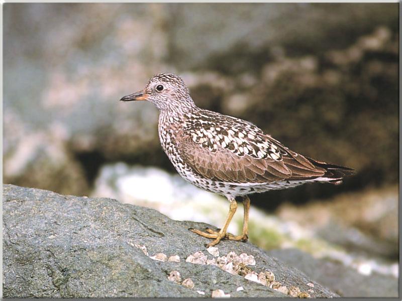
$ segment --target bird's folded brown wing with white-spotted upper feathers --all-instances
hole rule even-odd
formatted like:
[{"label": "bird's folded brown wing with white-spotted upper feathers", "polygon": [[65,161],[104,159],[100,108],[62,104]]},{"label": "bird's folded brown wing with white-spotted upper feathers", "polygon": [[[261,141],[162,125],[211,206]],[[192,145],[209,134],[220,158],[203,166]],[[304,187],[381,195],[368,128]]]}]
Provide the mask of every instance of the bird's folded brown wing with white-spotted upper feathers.
[{"label": "bird's folded brown wing with white-spotted upper feathers", "polygon": [[[215,126],[200,124],[179,131],[180,155],[193,171],[217,181],[263,184],[313,179],[325,174],[247,121],[234,117]],[[240,124],[241,122],[241,124]],[[240,126],[241,125],[241,126]]]}]

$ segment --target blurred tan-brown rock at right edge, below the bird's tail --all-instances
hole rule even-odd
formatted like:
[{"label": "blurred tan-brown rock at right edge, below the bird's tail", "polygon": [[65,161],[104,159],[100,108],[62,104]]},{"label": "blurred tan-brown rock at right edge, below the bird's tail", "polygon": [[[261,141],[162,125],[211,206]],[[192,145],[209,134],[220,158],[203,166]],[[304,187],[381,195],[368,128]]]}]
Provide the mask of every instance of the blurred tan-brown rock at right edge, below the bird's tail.
[{"label": "blurred tan-brown rock at right edge, below the bird's tail", "polygon": [[343,194],[331,202],[296,207],[285,204],[278,215],[297,221],[324,239],[353,251],[397,258],[398,188]]}]

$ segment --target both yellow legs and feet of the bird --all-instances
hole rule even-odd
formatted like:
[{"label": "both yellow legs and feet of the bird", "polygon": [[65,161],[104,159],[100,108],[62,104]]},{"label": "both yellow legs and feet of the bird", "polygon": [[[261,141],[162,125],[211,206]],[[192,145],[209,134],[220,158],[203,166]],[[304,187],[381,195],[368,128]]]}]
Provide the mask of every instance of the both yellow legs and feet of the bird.
[{"label": "both yellow legs and feet of the bird", "polygon": [[214,241],[207,244],[207,247],[218,244],[221,241],[221,239],[247,241],[248,240],[248,214],[249,214],[249,209],[250,209],[250,198],[248,196],[245,196],[243,198],[243,207],[244,207],[244,218],[243,218],[242,235],[233,235],[231,233],[226,233],[226,230],[228,229],[230,221],[232,220],[233,215],[235,214],[236,209],[237,209],[237,203],[236,203],[236,200],[234,200],[234,199],[230,201],[229,213],[228,213],[228,216],[226,217],[225,224],[222,229],[220,229],[219,231],[214,231],[210,228],[207,228],[206,229],[207,232],[203,232],[203,231],[196,230],[196,229],[189,229],[189,230],[198,235],[201,235],[201,236],[204,236],[207,238],[215,238]]}]

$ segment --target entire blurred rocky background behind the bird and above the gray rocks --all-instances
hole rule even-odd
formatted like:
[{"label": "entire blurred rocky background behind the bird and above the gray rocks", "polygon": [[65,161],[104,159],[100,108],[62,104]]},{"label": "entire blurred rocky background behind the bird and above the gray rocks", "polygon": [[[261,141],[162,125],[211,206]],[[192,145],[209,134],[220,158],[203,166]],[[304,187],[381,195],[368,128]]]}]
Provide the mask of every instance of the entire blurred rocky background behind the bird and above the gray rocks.
[{"label": "entire blurred rocky background behind the bird and above the gray rocks", "polygon": [[227,201],[177,176],[157,109],[119,102],[173,72],[198,106],[357,171],[253,195],[253,243],[397,276],[397,3],[8,3],[3,22],[4,183],[221,226]]}]

